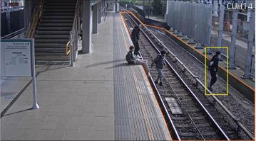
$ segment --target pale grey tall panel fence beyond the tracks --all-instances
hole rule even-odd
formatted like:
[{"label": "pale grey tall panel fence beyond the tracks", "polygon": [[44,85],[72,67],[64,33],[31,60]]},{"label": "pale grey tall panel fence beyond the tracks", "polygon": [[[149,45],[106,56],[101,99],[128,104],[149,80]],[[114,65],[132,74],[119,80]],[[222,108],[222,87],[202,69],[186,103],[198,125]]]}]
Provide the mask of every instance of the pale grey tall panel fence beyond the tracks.
[{"label": "pale grey tall panel fence beyond the tracks", "polygon": [[210,45],[212,5],[168,1],[168,26],[202,45]]}]

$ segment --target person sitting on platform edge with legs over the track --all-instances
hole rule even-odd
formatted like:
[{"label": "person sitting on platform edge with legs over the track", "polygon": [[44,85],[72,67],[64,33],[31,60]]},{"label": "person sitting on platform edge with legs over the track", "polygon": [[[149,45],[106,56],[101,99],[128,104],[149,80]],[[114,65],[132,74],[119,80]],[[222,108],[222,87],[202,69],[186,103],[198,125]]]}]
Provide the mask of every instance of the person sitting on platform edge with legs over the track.
[{"label": "person sitting on platform edge with legs over the track", "polygon": [[148,77],[149,77],[149,68],[148,68],[148,61],[147,60],[142,60],[140,58],[136,58],[134,55],[134,47],[130,46],[130,51],[127,53],[126,55],[126,61],[128,62],[128,64],[140,64],[144,67],[145,72],[147,73]]}]

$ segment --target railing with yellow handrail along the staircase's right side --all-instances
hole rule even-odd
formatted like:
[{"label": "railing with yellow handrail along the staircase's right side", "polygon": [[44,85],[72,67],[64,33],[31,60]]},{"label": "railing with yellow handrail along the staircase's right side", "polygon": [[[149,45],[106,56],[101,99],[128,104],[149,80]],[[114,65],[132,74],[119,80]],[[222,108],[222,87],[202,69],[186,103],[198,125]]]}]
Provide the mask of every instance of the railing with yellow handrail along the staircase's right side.
[{"label": "railing with yellow handrail along the staircase's right side", "polygon": [[70,55],[71,67],[73,67],[73,62],[76,62],[76,57],[78,55],[78,42],[80,37],[80,6],[81,0],[77,0],[72,30],[69,33],[69,41],[66,43],[66,55]]}]

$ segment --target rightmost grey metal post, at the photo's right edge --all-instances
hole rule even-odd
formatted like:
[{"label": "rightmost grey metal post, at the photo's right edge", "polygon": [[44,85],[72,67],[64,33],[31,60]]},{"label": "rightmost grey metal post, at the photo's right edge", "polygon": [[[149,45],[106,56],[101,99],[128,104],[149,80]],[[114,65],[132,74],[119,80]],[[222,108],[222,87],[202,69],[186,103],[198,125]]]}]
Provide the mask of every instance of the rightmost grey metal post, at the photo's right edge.
[{"label": "rightmost grey metal post, at the photo's right edge", "polygon": [[246,58],[245,58],[245,74],[242,75],[244,79],[250,79],[252,77],[251,69],[252,69],[252,45],[253,45],[253,38],[255,33],[255,14],[254,12],[251,13],[250,18],[250,30],[248,35],[248,44],[247,44],[247,51],[246,51]]}]

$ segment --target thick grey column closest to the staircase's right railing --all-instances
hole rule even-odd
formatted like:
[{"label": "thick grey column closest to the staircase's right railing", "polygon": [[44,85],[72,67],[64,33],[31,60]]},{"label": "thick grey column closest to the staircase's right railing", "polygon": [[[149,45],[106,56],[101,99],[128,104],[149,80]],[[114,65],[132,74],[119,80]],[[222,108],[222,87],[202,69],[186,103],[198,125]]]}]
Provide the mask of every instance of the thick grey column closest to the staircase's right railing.
[{"label": "thick grey column closest to the staircase's right railing", "polygon": [[90,53],[91,52],[91,1],[83,1],[82,4],[83,16],[83,38],[82,38],[82,52]]}]

